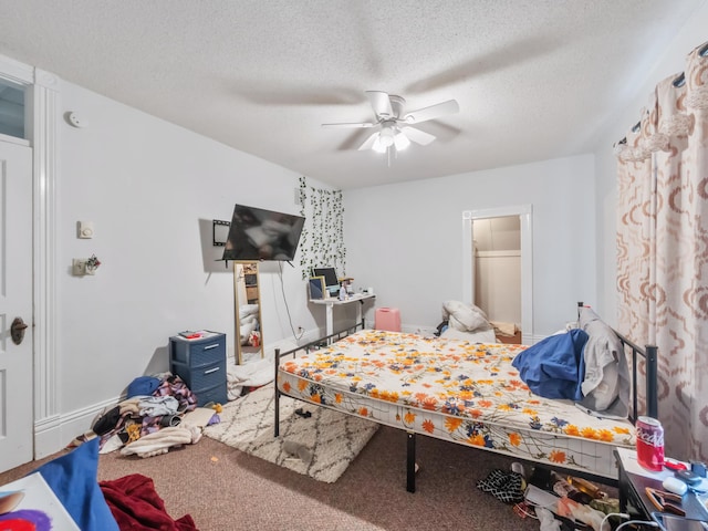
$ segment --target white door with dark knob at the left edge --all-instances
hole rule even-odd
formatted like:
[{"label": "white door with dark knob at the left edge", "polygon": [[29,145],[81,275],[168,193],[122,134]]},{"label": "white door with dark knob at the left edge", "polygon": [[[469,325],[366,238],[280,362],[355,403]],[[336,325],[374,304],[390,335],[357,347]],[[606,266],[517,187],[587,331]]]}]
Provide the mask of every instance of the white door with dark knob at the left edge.
[{"label": "white door with dark knob at the left edge", "polygon": [[[18,345],[10,327],[28,327]],[[32,460],[32,149],[0,140],[0,471]]]}]

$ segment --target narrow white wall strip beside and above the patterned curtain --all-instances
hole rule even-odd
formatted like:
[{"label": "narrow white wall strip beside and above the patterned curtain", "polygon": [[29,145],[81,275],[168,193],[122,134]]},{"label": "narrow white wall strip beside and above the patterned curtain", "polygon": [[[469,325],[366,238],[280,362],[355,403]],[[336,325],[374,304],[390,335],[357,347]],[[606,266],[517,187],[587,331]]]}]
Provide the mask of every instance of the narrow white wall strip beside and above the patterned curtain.
[{"label": "narrow white wall strip beside and above the patterned curtain", "polygon": [[597,308],[611,324],[616,324],[616,159],[613,144],[623,138],[639,121],[656,84],[667,76],[683,72],[686,56],[708,40],[708,1],[690,17],[671,44],[647,69],[637,72],[637,83],[627,95],[617,95],[617,112],[598,135],[596,159],[597,204]]}]

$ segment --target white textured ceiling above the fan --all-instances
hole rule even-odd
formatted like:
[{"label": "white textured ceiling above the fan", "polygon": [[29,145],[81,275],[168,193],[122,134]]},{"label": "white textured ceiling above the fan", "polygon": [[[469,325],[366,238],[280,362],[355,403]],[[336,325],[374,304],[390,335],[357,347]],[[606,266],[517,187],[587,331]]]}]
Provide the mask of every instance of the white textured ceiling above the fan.
[{"label": "white textured ceiling above the fan", "polygon": [[[704,2],[0,0],[0,54],[346,189],[591,150]],[[460,112],[388,160],[321,127],[371,90]]]}]

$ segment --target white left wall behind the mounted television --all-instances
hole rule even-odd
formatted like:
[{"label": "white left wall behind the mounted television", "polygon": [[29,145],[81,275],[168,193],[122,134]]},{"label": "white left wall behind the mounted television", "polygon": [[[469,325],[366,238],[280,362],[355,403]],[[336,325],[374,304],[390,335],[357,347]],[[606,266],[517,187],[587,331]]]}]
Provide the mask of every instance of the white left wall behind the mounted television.
[{"label": "white left wall behind the mounted television", "polygon": [[[88,124],[60,127],[56,366],[69,414],[166,371],[168,337],[181,330],[225,332],[233,352],[232,269],[215,261],[211,220],[230,220],[236,202],[298,214],[300,176],[71,83],[61,98],[62,114]],[[93,239],[76,238],[79,220],[94,222]],[[72,277],[72,258],[92,253],[97,274]],[[278,264],[260,271],[268,347],[291,332]],[[323,327],[299,267],[282,264],[282,282],[295,330]]]}]

